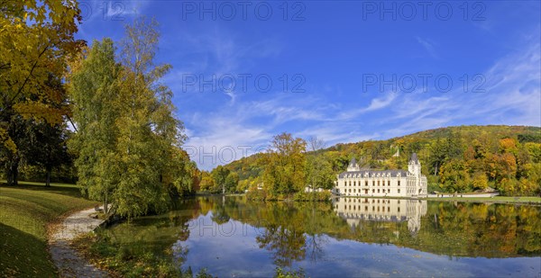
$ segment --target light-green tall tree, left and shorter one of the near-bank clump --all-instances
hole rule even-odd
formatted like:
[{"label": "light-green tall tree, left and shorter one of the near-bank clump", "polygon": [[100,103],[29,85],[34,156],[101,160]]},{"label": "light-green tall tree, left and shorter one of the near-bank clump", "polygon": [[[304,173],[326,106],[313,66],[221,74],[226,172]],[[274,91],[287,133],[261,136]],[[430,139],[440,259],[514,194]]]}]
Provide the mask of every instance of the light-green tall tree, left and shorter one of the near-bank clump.
[{"label": "light-green tall tree, left and shorter one of the near-bank clump", "polygon": [[120,117],[118,78],[113,40],[94,41],[71,68],[69,96],[74,103],[77,132],[69,147],[78,155],[78,184],[90,198],[108,203],[119,184],[117,159]]}]

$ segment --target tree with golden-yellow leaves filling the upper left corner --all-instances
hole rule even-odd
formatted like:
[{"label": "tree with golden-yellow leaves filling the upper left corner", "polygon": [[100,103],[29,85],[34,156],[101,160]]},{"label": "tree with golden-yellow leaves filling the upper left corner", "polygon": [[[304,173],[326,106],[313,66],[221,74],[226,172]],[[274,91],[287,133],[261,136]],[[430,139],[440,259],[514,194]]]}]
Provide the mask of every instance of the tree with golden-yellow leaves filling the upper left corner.
[{"label": "tree with golden-yellow leaves filling the upper left corner", "polygon": [[21,118],[60,124],[69,115],[59,82],[83,40],[75,1],[5,0],[0,7],[0,152],[8,184],[16,184]]}]

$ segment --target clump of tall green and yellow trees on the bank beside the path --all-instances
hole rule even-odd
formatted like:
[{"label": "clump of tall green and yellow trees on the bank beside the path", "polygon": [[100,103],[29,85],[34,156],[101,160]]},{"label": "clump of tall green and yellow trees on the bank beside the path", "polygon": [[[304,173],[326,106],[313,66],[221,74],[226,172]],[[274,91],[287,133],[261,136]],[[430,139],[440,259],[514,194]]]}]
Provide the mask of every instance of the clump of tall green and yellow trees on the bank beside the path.
[{"label": "clump of tall green and yellow trees on the bank beside the path", "polygon": [[171,184],[192,188],[194,165],[179,151],[184,128],[159,82],[170,66],[153,62],[156,28],[142,18],[127,26],[120,63],[111,40],[95,42],[69,77],[79,184],[128,218],[165,210]]}]

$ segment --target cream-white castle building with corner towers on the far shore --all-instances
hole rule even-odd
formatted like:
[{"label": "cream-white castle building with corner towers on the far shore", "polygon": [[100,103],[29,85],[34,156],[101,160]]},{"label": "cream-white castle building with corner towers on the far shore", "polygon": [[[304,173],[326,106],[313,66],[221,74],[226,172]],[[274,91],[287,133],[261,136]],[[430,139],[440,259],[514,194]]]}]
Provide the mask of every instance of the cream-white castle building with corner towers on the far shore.
[{"label": "cream-white castle building with corner towers on the far shore", "polygon": [[409,158],[408,171],[361,168],[353,158],[347,171],[337,178],[333,193],[341,196],[426,196],[426,176],[421,175],[421,164],[416,153]]}]

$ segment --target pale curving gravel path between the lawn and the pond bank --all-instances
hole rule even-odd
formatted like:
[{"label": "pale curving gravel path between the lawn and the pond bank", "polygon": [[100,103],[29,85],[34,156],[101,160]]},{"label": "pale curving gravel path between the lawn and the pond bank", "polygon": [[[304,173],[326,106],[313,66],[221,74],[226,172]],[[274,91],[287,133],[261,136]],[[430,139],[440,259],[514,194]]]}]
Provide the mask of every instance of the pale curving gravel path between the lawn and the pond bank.
[{"label": "pale curving gravel path between the lawn and the pond bank", "polygon": [[66,218],[49,239],[49,252],[54,265],[60,272],[60,277],[108,277],[109,275],[96,266],[91,265],[83,256],[69,247],[69,243],[81,234],[96,229],[103,220],[90,218],[94,208],[78,211]]}]

